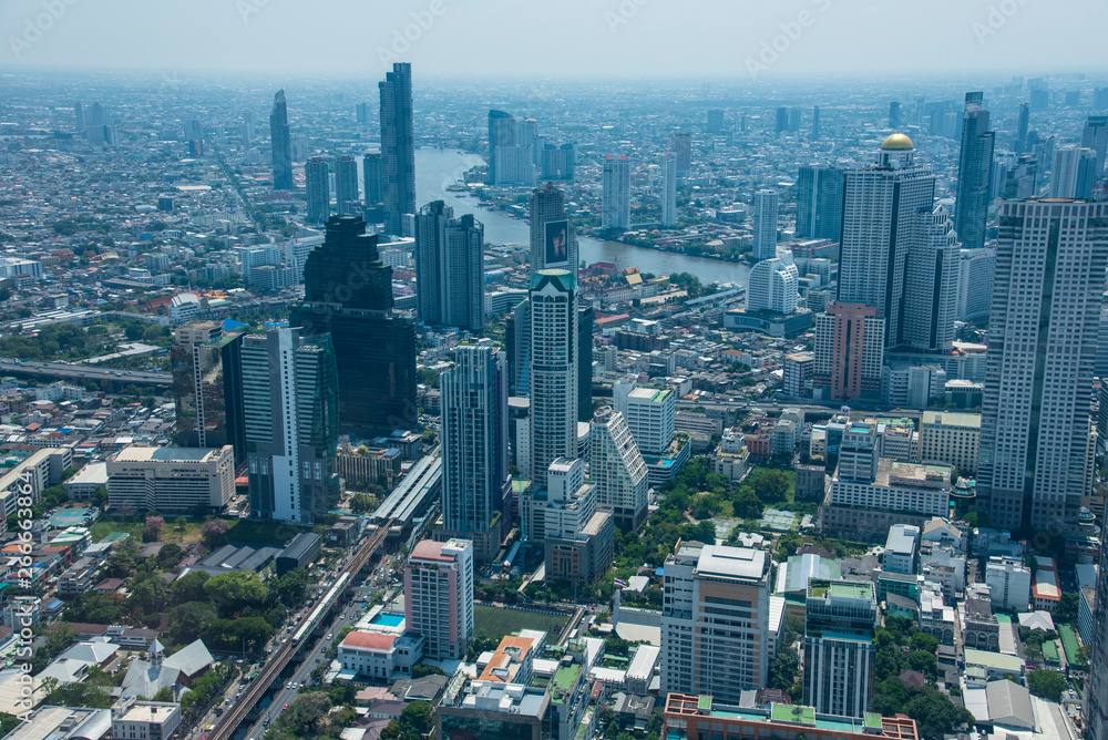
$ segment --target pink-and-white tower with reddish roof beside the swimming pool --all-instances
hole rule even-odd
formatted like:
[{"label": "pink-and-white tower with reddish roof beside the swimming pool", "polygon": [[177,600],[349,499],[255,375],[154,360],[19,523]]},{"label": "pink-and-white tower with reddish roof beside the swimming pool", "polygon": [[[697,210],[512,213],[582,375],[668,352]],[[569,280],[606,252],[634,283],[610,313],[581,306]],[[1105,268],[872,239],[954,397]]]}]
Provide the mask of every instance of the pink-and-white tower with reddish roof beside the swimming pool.
[{"label": "pink-and-white tower with reddish roof beside the swimming pool", "polygon": [[404,566],[404,627],[427,640],[423,656],[460,660],[473,638],[473,543],[423,539]]}]

